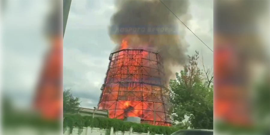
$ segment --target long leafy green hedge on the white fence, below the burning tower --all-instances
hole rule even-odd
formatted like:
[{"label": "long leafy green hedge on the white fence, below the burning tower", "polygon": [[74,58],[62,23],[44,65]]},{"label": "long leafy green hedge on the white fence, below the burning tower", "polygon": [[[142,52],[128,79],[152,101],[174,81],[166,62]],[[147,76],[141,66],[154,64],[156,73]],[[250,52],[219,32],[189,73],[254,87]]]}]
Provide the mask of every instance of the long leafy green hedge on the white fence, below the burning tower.
[{"label": "long leafy green hedge on the white fence, below the burning tower", "polygon": [[137,133],[147,133],[150,134],[166,134],[170,135],[179,129],[168,127],[168,126],[154,126],[149,124],[138,124],[133,122],[124,122],[120,119],[110,119],[105,117],[94,117],[91,116],[81,116],[81,115],[65,115],[63,128],[70,128],[70,134],[74,127],[79,128],[80,132],[82,132],[83,127],[91,127],[91,128],[100,128],[100,129],[111,129],[113,127],[113,131],[129,131],[132,127],[132,132]]}]

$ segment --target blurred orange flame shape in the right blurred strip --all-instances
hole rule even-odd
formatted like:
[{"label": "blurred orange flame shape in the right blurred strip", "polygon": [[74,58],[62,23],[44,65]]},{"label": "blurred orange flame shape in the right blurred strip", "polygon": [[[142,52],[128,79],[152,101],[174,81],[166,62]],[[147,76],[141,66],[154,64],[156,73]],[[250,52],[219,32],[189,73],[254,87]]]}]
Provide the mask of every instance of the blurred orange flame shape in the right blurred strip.
[{"label": "blurred orange flame shape in the right blurred strip", "polygon": [[237,70],[232,61],[237,58],[232,46],[216,47],[214,51],[214,116],[237,125],[250,125],[245,88],[235,79]]}]

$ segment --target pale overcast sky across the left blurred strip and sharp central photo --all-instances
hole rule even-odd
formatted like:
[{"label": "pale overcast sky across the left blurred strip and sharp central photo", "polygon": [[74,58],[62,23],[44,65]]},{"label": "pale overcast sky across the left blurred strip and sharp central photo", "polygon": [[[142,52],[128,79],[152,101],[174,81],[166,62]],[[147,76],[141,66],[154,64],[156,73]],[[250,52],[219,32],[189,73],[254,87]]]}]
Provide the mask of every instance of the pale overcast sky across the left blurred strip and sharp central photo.
[{"label": "pale overcast sky across the left blurred strip and sharp central photo", "polygon": [[[31,103],[42,58],[48,43],[41,33],[46,1],[13,1],[2,16],[2,88],[16,104]],[[98,104],[100,87],[114,48],[108,35],[110,16],[115,12],[112,0],[73,0],[63,47],[63,86],[81,99],[82,107]],[[192,0],[192,20],[187,26],[213,49],[213,1]],[[181,22],[179,22],[181,26]],[[4,27],[4,29],[3,29]],[[182,25],[182,27],[184,27]],[[4,33],[4,35],[3,35]],[[213,53],[187,30],[189,55],[203,52],[206,66],[213,65]],[[16,99],[16,100],[15,100]]]}]

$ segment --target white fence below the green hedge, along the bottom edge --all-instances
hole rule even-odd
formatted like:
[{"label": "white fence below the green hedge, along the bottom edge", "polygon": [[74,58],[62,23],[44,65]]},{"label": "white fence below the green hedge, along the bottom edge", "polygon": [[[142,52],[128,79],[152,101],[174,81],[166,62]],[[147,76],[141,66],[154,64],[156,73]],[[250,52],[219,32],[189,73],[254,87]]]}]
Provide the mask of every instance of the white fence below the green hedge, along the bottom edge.
[{"label": "white fence below the green hedge, along the bottom edge", "polygon": [[[99,128],[83,128],[82,133],[80,135],[150,135],[149,131],[148,133],[136,133],[132,132],[132,128],[130,131],[116,131],[115,133],[113,132],[113,127],[110,129],[110,131],[106,129],[99,129]],[[78,128],[73,128],[72,134],[69,134],[69,128],[64,132],[64,135],[79,135],[79,129]],[[156,134],[160,135],[160,134]],[[164,134],[162,134],[164,135]]]}]

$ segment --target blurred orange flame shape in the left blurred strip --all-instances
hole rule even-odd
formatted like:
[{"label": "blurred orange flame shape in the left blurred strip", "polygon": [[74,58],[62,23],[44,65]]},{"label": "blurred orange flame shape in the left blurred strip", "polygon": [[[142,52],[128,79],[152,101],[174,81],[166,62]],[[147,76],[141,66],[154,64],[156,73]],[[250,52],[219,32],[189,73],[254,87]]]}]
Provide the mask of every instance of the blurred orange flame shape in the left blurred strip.
[{"label": "blurred orange flame shape in the left blurred strip", "polygon": [[35,108],[46,119],[59,119],[62,101],[63,39],[55,38],[45,59],[35,98]]}]

